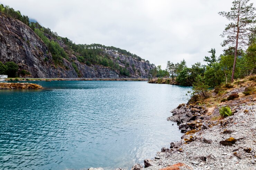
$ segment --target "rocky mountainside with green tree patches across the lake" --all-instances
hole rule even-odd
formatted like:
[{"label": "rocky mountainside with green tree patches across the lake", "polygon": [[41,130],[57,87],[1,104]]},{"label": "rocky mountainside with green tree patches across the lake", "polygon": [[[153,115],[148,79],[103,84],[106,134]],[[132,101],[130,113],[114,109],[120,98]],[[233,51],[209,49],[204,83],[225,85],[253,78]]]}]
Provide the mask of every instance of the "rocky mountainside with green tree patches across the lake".
[{"label": "rocky mountainside with green tree patches across the lake", "polygon": [[[117,52],[118,50],[105,47],[97,50],[98,53],[94,55],[97,62],[92,62],[91,58],[88,59],[92,54],[75,52],[78,50],[73,50],[72,46],[64,43],[64,38],[49,35],[51,31],[46,34],[39,28],[31,29],[3,12],[0,12],[0,23],[0,61],[15,62],[19,65],[19,70],[27,70],[30,73],[30,76],[26,77],[145,78],[154,68],[152,64],[140,58],[141,61],[138,61],[134,56],[121,54]],[[54,52],[49,44],[60,46],[57,48],[61,53]],[[96,50],[93,49],[97,47],[92,45],[84,48],[94,52]]]}]

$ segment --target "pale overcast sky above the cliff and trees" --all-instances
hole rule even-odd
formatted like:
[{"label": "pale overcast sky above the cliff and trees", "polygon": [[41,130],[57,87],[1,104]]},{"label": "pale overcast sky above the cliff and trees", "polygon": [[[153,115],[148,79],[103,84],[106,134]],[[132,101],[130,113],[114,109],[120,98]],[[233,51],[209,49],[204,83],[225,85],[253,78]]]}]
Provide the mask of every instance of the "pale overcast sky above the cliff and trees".
[{"label": "pale overcast sky above the cliff and trees", "polygon": [[[255,0],[251,0],[254,2]],[[100,43],[135,53],[150,63],[203,61],[219,36],[232,0],[0,0],[75,43]],[[255,4],[254,4],[255,6]]]}]

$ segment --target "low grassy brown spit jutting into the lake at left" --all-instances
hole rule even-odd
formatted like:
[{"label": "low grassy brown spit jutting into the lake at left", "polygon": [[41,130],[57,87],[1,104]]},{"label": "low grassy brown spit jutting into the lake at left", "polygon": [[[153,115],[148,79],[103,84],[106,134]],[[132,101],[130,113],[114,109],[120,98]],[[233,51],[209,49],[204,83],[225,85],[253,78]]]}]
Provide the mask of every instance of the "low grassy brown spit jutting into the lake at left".
[{"label": "low grassy brown spit jutting into the lake at left", "polygon": [[0,83],[0,89],[44,89],[33,83]]}]

